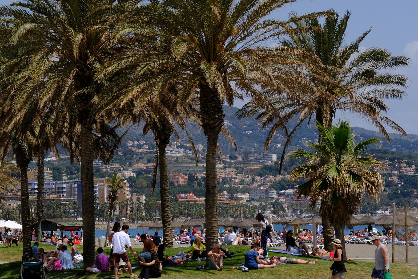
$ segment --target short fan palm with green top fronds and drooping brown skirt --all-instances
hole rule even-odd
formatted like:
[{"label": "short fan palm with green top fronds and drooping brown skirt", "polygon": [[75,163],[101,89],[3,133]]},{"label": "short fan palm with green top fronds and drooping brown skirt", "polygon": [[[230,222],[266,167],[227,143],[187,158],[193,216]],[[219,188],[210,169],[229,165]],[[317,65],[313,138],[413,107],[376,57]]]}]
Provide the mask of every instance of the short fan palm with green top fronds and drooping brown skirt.
[{"label": "short fan palm with green top fronds and drooping brown skirt", "polygon": [[[320,143],[309,142],[310,151],[298,148],[288,155],[306,161],[291,171],[290,179],[306,181],[299,185],[298,197],[310,197],[313,210],[321,201],[319,212],[329,216],[336,237],[344,239],[344,225],[360,208],[362,196],[379,200],[383,190],[384,179],[376,171],[380,167],[379,161],[364,156],[366,149],[380,140],[369,138],[356,143],[347,120],[340,120],[331,128],[324,128],[319,123],[317,127],[322,137]],[[323,158],[326,164],[321,162]],[[345,256],[344,245],[343,252]]]}]

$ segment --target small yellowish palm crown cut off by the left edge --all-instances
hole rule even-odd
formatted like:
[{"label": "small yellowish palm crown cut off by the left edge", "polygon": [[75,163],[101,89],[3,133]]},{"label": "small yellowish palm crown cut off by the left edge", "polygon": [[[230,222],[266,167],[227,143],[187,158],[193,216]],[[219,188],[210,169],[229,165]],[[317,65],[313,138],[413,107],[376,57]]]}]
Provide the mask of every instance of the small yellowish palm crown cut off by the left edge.
[{"label": "small yellowish palm crown cut off by the left edge", "polygon": [[[15,184],[19,185],[20,182],[15,176],[18,174],[18,168],[11,162],[13,157],[7,158],[9,152],[6,152],[5,156],[3,156],[3,152],[0,151],[0,192],[8,193],[10,190],[13,190],[17,193],[18,189]],[[6,198],[0,196],[1,200],[6,200]]]}]

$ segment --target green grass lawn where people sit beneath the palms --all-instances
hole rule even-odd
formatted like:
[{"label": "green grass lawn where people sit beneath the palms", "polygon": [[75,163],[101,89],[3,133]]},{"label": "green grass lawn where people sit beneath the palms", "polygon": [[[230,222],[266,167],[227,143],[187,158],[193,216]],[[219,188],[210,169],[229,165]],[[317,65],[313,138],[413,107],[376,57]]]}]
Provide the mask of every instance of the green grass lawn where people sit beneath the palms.
[{"label": "green grass lawn where people sit beneath the palms", "polygon": [[[20,244],[20,243],[19,243]],[[5,246],[0,246],[0,261],[11,261],[7,264],[0,264],[1,275],[0,278],[14,279],[18,278],[20,271],[20,261],[22,255],[22,246],[13,248],[3,248]],[[45,248],[45,251],[52,250],[54,246],[41,244],[40,247]],[[82,252],[82,246],[79,245],[79,251]],[[185,261],[184,264],[177,267],[167,267],[163,268],[163,274],[161,278],[166,279],[189,279],[189,278],[218,278],[222,276],[223,278],[231,278],[232,276],[239,276],[240,279],[254,279],[254,277],[263,277],[263,278],[279,278],[279,279],[322,279],[330,278],[331,262],[319,259],[318,263],[315,265],[301,265],[301,264],[280,264],[277,265],[274,269],[261,269],[261,270],[250,270],[250,272],[242,272],[240,270],[229,269],[231,266],[238,267],[244,261],[245,253],[250,249],[250,246],[227,246],[231,252],[235,253],[235,257],[232,259],[227,259],[224,261],[224,270],[223,271],[212,271],[212,270],[196,270],[196,267],[204,264],[202,261]],[[140,252],[142,248],[135,248],[134,251]],[[174,248],[167,249],[165,255],[176,254],[178,251],[190,252],[190,247],[183,248]],[[109,254],[110,248],[104,248],[104,253]],[[133,266],[137,266],[136,259],[133,258],[132,253],[128,250],[128,255],[132,260]],[[270,252],[271,255],[285,255],[280,253]],[[294,256],[293,256],[294,257]],[[312,257],[298,256],[300,259],[313,259]],[[374,266],[373,262],[366,261],[357,261],[357,262],[348,262],[346,263],[347,273],[345,275],[346,279],[366,279],[370,278],[372,268]],[[75,278],[112,278],[113,272],[105,272],[102,274],[89,275],[89,276],[76,276],[76,274],[81,269],[66,269],[63,271],[51,271],[46,273],[46,278],[48,279],[75,279]],[[67,274],[63,274],[67,272]],[[140,270],[136,269],[135,274],[139,275]],[[418,276],[418,269],[403,264],[391,264],[390,265],[390,274],[394,279],[406,279],[413,277],[412,274]],[[129,278],[129,274],[122,274],[119,278]]]}]

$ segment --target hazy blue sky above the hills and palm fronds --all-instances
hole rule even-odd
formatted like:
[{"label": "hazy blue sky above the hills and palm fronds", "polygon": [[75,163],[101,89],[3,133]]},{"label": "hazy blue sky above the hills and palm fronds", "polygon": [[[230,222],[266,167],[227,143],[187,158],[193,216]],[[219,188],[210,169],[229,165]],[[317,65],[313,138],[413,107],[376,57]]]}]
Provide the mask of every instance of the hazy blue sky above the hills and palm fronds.
[{"label": "hazy blue sky above the hills and palm fronds", "polygon": [[[0,4],[11,1],[0,0]],[[418,134],[418,32],[416,11],[418,0],[300,0],[273,14],[277,18],[288,18],[288,13],[299,14],[324,11],[334,8],[338,13],[350,10],[352,15],[347,28],[347,41],[352,41],[367,28],[372,31],[364,39],[362,47],[381,47],[394,55],[407,55],[412,58],[408,68],[397,71],[410,79],[406,89],[408,97],[403,100],[389,100],[391,108],[387,116],[400,124],[407,133]],[[235,106],[242,106],[237,102]],[[341,117],[342,115],[337,115]],[[347,115],[353,126],[373,129],[354,115]]]}]

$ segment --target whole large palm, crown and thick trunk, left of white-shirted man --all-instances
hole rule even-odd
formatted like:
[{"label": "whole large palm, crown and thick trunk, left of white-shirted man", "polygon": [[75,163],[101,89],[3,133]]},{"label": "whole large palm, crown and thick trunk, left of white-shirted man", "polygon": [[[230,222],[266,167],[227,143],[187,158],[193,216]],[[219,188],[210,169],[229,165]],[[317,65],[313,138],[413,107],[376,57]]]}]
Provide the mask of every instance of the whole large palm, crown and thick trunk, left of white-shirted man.
[{"label": "whole large palm, crown and thick trunk, left of white-shirted man", "polygon": [[[94,79],[94,74],[104,61],[124,52],[123,44],[113,39],[108,28],[94,27],[115,26],[121,17],[108,9],[117,6],[123,10],[125,6],[138,2],[42,0],[15,2],[11,4],[13,7],[0,7],[3,21],[13,26],[8,34],[10,40],[1,44],[0,51],[16,50],[21,53],[20,57],[10,59],[6,64],[20,65],[22,61],[28,61],[27,70],[20,71],[20,67],[16,67],[14,71],[22,95],[37,83],[45,82],[40,104],[57,108],[57,113],[73,110],[76,113],[74,120],[79,125],[82,162],[86,266],[91,266],[95,258],[92,128],[97,123],[97,113],[93,108],[102,99],[100,94],[104,86]],[[19,82],[18,75],[22,80],[29,76],[32,82]],[[27,98],[19,99],[22,100],[25,102]]]}]

